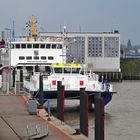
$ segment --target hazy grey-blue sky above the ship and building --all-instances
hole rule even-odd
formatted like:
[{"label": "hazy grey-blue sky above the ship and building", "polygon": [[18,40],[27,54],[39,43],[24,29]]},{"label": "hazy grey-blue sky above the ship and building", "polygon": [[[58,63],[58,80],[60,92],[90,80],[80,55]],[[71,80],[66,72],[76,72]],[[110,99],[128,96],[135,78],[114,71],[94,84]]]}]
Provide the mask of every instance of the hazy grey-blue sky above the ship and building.
[{"label": "hazy grey-blue sky above the ship and building", "polygon": [[14,21],[16,34],[23,35],[32,15],[40,31],[119,30],[122,44],[140,44],[140,0],[0,0],[0,31],[12,29]]}]

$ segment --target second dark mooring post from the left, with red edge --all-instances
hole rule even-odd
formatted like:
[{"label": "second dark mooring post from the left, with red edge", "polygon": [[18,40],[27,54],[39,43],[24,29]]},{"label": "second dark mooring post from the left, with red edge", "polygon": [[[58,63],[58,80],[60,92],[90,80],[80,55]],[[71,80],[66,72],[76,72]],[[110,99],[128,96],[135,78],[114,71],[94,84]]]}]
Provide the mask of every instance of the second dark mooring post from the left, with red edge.
[{"label": "second dark mooring post from the left, with red edge", "polygon": [[61,121],[64,121],[64,99],[65,91],[61,81],[57,82],[57,117]]}]

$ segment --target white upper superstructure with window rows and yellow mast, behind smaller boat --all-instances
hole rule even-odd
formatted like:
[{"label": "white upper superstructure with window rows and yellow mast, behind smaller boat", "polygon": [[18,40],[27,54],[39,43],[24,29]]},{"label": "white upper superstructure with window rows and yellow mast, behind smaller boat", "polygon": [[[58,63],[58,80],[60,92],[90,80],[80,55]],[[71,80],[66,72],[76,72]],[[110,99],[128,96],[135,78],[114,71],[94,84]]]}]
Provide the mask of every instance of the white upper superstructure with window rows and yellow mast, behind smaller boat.
[{"label": "white upper superstructure with window rows and yellow mast, behind smaller boat", "polygon": [[27,23],[29,35],[15,37],[7,42],[7,53],[2,55],[3,66],[28,67],[50,66],[52,63],[62,63],[65,55],[62,37],[39,37],[37,33],[37,20]]}]

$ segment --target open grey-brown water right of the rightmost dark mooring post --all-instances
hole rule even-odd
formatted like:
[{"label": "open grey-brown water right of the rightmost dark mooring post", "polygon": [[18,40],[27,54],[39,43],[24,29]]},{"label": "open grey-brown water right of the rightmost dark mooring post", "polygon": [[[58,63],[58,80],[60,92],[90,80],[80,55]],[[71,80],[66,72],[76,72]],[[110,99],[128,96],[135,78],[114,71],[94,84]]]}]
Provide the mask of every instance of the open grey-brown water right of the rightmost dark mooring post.
[{"label": "open grey-brown water right of the rightmost dark mooring post", "polygon": [[140,81],[114,83],[118,92],[105,108],[106,140],[140,139]]}]

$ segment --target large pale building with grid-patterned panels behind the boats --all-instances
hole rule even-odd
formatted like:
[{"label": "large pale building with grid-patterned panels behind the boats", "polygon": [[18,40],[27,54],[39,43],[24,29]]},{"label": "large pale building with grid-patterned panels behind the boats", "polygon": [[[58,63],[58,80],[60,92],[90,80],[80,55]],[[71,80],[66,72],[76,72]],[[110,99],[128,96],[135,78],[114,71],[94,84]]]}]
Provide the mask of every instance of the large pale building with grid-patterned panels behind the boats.
[{"label": "large pale building with grid-patterned panels behind the boats", "polygon": [[[96,72],[120,72],[120,33],[67,32],[67,62],[75,60]],[[40,36],[62,36],[61,32],[45,32]]]}]

